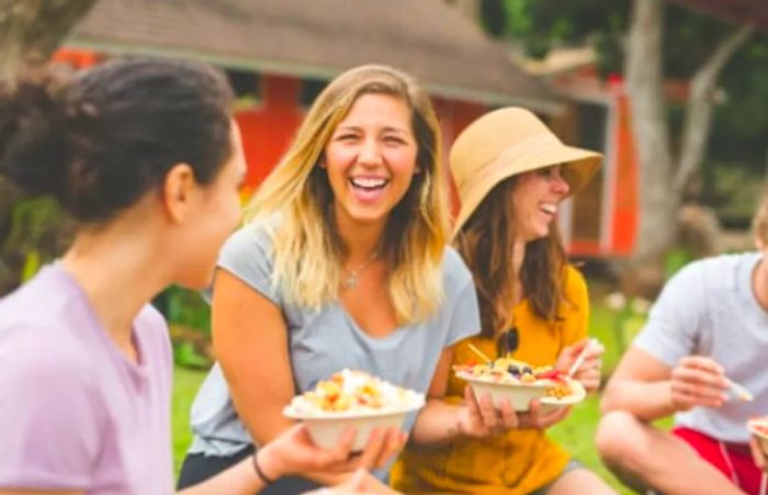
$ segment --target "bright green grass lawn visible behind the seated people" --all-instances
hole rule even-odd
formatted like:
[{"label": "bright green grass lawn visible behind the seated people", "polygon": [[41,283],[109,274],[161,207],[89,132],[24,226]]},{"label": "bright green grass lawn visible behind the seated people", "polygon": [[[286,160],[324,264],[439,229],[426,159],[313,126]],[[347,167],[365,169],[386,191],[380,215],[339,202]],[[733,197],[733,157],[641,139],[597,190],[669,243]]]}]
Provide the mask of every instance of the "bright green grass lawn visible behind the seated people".
[{"label": "bright green grass lawn visible behind the seated people", "polygon": [[[590,316],[590,334],[597,337],[606,346],[603,357],[605,370],[610,372],[615,368],[621,350],[617,345],[613,314],[602,304],[595,304]],[[636,331],[642,325],[642,318],[631,318],[626,324],[626,336]],[[173,386],[173,454],[177,470],[189,447],[191,434],[189,429],[189,410],[194,394],[205,376],[204,372],[184,368],[176,369],[176,383]],[[552,437],[567,449],[574,458],[578,459],[587,468],[597,472],[611,484],[619,493],[630,494],[600,462],[595,449],[595,430],[600,417],[598,397],[590,396],[584,403],[576,406],[571,416],[562,424],[550,430]]]}]

